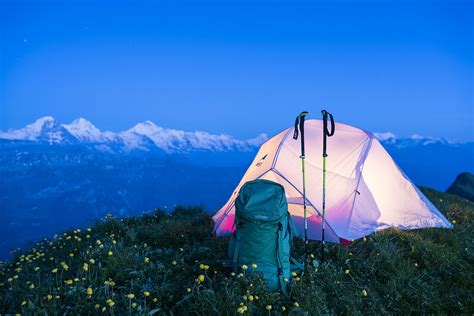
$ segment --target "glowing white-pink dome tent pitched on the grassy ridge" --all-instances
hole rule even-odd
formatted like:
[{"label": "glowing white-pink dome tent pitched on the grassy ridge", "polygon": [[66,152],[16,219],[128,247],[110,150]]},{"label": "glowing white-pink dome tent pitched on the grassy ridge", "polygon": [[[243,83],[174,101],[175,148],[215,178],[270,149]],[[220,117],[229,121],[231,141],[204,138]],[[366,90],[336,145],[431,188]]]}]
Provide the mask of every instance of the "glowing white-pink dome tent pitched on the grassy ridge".
[{"label": "glowing white-pink dome tent pitched on the grassy ridge", "polygon": [[[322,133],[321,120],[306,121],[308,238],[312,240],[321,240]],[[293,128],[288,128],[261,146],[227,203],[213,216],[218,236],[233,230],[234,201],[240,187],[254,179],[283,185],[289,212],[298,231],[303,231],[300,141],[292,135]],[[327,150],[326,241],[351,241],[390,227],[452,227],[372,133],[337,123]]]}]

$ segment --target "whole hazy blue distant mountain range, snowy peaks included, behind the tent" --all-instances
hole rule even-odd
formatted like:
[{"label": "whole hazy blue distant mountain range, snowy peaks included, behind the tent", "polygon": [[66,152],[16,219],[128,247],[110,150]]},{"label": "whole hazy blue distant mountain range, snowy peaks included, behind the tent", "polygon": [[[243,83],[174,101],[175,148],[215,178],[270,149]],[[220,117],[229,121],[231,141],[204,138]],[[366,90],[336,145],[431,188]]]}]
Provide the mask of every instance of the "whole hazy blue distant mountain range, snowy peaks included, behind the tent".
[{"label": "whole hazy blue distant mountain range, snowy peaks included, behind the tent", "polygon": [[[459,173],[474,172],[473,142],[376,136],[418,185],[444,191]],[[214,211],[267,138],[241,140],[150,121],[102,132],[83,118],[61,124],[52,117],[0,132],[0,258],[28,240],[106,213],[174,204]]]}]

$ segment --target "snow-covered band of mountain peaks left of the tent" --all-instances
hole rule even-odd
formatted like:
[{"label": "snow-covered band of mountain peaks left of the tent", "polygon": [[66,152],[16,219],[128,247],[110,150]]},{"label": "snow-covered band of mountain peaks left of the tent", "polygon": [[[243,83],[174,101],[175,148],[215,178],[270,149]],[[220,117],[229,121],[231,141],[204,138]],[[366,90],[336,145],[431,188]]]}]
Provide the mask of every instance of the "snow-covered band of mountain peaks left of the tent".
[{"label": "snow-covered band of mountain peaks left of the tent", "polygon": [[226,134],[210,134],[203,131],[188,132],[167,129],[151,121],[138,123],[122,132],[101,132],[84,118],[70,124],[60,124],[46,116],[18,130],[0,132],[0,139],[47,142],[49,144],[88,143],[106,151],[163,150],[166,153],[191,151],[252,151],[268,139],[266,134],[241,140]]}]

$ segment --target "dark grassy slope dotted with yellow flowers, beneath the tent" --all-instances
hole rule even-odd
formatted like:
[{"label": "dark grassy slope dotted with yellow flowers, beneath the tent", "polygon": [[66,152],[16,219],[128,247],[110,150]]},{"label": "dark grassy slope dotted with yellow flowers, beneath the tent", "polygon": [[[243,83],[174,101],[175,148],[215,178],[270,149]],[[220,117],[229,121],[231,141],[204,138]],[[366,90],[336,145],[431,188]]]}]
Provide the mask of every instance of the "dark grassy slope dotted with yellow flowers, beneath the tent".
[{"label": "dark grassy slope dotted with yellow flowers, beneath the tent", "polygon": [[[0,314],[473,314],[474,204],[423,189],[453,230],[385,230],[348,247],[320,244],[289,299],[251,269],[223,266],[227,239],[201,208],[107,216],[0,266]],[[302,254],[301,241],[296,254]]]}]

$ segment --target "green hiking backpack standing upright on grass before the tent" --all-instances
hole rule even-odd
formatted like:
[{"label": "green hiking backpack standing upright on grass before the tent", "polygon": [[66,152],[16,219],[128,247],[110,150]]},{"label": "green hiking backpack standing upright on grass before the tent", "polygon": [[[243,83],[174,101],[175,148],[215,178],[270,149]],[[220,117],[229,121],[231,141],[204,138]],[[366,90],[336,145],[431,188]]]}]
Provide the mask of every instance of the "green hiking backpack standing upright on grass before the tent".
[{"label": "green hiking backpack standing upright on grass before the tent", "polygon": [[262,274],[268,289],[286,295],[285,279],[290,279],[290,253],[297,232],[283,186],[268,180],[245,183],[235,200],[234,226],[229,242],[234,270],[246,265],[247,273]]}]

